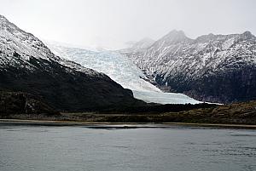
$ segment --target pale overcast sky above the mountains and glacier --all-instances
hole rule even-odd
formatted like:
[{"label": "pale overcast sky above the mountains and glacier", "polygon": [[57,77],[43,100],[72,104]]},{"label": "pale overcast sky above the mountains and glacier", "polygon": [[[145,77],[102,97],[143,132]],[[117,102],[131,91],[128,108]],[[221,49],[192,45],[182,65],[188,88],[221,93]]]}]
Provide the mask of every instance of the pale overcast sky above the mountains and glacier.
[{"label": "pale overcast sky above the mountains and glacier", "polygon": [[0,14],[36,37],[121,48],[173,29],[256,34],[256,0],[0,0]]}]

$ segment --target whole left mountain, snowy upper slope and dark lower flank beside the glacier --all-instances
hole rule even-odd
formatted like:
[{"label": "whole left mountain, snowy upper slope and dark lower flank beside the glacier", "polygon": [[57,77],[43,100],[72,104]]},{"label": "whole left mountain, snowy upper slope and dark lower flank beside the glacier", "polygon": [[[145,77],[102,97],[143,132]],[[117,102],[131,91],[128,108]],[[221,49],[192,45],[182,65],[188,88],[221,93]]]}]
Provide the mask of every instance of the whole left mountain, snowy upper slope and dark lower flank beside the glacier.
[{"label": "whole left mountain, snowy upper slope and dark lower flank beside the glacier", "polygon": [[142,105],[107,75],[51,53],[44,43],[0,15],[0,89],[40,97],[61,111]]}]

